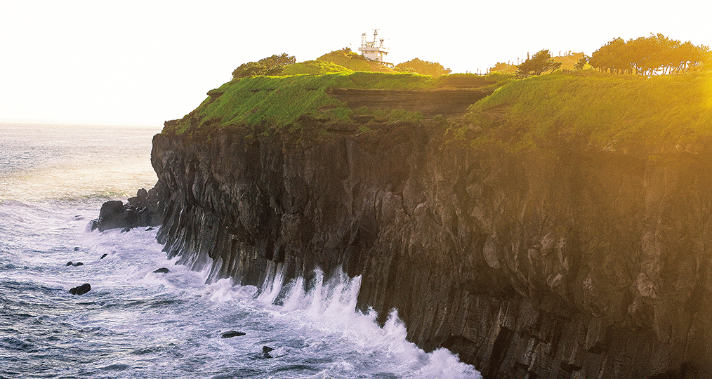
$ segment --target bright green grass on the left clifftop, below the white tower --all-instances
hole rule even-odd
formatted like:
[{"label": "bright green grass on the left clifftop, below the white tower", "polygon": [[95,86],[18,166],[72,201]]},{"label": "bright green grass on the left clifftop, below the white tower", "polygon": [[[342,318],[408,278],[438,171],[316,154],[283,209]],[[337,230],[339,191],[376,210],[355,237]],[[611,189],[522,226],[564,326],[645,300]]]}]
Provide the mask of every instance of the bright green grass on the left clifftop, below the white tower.
[{"label": "bright green grass on the left clifftop, below the white tower", "polygon": [[[311,64],[310,64],[311,65]],[[289,68],[288,66],[287,68]],[[302,68],[337,68],[330,63],[315,63]],[[287,70],[286,68],[286,70]],[[295,69],[298,71],[300,69]],[[465,75],[465,74],[462,74]],[[352,111],[343,102],[328,95],[331,88],[380,90],[426,90],[443,87],[447,76],[433,79],[413,73],[341,72],[323,75],[258,76],[227,82],[183,119],[167,122],[167,134],[209,134],[216,129],[255,127],[269,131],[300,128],[300,120],[318,120],[324,124],[352,122]],[[501,75],[489,79],[453,76],[451,81],[469,86],[503,84]],[[468,84],[469,83],[469,84]],[[415,119],[396,114],[396,118]]]}]

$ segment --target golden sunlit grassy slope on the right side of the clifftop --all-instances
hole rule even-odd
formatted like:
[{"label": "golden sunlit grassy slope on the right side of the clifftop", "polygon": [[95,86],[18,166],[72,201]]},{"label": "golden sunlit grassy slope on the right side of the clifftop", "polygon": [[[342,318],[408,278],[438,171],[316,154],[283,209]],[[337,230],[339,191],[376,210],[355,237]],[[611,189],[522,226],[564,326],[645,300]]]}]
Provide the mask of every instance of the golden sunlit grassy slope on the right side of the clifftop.
[{"label": "golden sunlit grassy slope on the right side of the clifftop", "polygon": [[[689,144],[712,135],[712,74],[554,73],[517,80],[472,105],[458,139],[507,149],[575,138],[595,146]],[[468,130],[481,128],[476,137]]]}]

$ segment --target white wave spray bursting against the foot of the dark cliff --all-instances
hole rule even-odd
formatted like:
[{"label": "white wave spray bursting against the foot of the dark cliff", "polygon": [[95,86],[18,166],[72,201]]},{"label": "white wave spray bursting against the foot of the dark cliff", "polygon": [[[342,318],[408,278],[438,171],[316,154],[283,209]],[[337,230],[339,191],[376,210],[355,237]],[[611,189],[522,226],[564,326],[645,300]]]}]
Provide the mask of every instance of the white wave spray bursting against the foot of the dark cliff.
[{"label": "white wave spray bursting against the foot of the dark cliff", "polygon": [[[281,274],[278,271],[273,283],[266,283],[270,294],[278,292],[273,284],[283,282]],[[409,343],[406,327],[396,310],[391,311],[382,327],[378,326],[377,314],[372,309],[367,314],[357,311],[360,285],[360,276],[349,278],[340,270],[325,282],[323,272],[317,269],[308,286],[302,277],[284,284],[283,299],[274,298],[270,309],[276,319],[285,320],[291,329],[329,336],[335,339],[332,343],[350,344],[363,356],[370,357],[370,364],[360,367],[360,373],[404,373],[403,378],[481,378],[470,365],[459,362],[444,348],[425,353]],[[268,297],[258,297],[258,301],[265,299]],[[279,303],[282,305],[275,305]],[[320,346],[320,341],[311,342]],[[338,370],[352,368],[347,362],[336,366]],[[331,378],[333,373],[324,370],[320,375],[323,376],[315,378]]]}]

